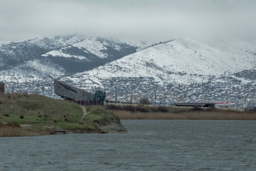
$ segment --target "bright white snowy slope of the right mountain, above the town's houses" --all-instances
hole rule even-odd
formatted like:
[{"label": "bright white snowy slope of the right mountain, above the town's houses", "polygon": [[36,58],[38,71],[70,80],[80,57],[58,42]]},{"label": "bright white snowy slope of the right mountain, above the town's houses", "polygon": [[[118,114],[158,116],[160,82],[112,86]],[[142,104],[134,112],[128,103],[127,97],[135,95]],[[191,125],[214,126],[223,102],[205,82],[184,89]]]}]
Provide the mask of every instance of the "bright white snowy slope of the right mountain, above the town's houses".
[{"label": "bright white snowy slope of the right mountain, above the town's houses", "polygon": [[192,80],[206,82],[209,77],[217,78],[255,67],[255,51],[255,44],[239,39],[176,39],[67,79],[76,83],[91,79],[100,86],[104,86],[104,79],[112,77],[152,77],[160,85],[189,84]]}]

